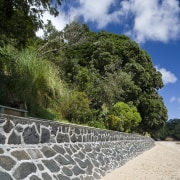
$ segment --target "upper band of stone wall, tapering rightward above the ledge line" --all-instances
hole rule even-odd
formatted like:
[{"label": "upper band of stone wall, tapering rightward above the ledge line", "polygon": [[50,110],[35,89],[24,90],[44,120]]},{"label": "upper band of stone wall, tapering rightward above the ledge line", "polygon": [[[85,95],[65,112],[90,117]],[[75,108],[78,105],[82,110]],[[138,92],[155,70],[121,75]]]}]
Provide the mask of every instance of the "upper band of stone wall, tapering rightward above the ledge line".
[{"label": "upper band of stone wall, tapering rightward above the ledge line", "polygon": [[[0,144],[39,144],[143,140],[137,134],[0,114]],[[13,130],[13,131],[12,131]],[[21,137],[21,138],[20,138]]]}]

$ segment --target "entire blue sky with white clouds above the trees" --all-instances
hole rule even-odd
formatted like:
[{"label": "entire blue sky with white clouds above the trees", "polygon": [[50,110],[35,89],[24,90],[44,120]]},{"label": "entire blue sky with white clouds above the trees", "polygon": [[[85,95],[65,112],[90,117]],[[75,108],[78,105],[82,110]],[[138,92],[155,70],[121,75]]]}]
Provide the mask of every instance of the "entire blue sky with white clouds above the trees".
[{"label": "entire blue sky with white clouds above the trees", "polygon": [[[126,34],[148,52],[164,87],[159,91],[169,119],[180,119],[180,2],[179,0],[65,0],[50,19],[58,30],[81,19],[92,31]],[[41,32],[39,32],[39,35]]]}]

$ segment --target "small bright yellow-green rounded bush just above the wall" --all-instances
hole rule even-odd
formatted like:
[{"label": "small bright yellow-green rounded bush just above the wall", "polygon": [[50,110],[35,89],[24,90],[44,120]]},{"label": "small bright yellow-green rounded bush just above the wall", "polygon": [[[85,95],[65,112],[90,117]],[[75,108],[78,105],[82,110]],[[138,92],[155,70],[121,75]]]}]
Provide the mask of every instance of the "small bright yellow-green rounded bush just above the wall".
[{"label": "small bright yellow-green rounded bush just above the wall", "polygon": [[112,130],[131,132],[140,122],[141,116],[135,106],[117,102],[110,110],[105,124]]}]

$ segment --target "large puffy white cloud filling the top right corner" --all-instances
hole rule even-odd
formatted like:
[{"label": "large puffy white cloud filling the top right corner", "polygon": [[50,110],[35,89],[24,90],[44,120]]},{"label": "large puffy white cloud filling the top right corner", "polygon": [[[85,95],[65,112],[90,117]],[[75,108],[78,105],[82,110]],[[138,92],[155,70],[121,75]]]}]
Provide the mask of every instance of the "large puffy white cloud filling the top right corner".
[{"label": "large puffy white cloud filling the top right corner", "polygon": [[168,42],[180,35],[178,0],[124,0],[122,9],[134,16],[134,25],[127,34],[137,42]]}]

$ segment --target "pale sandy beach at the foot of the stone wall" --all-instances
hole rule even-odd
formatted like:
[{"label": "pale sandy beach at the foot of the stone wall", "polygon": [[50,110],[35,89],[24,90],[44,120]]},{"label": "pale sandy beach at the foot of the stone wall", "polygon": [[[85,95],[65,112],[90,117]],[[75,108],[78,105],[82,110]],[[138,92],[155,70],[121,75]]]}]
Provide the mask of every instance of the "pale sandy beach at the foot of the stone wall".
[{"label": "pale sandy beach at the foot of the stone wall", "polygon": [[180,180],[180,142],[156,142],[101,180]]}]

